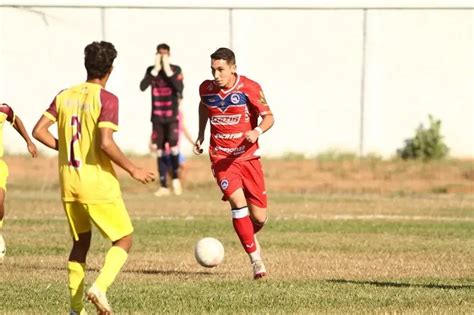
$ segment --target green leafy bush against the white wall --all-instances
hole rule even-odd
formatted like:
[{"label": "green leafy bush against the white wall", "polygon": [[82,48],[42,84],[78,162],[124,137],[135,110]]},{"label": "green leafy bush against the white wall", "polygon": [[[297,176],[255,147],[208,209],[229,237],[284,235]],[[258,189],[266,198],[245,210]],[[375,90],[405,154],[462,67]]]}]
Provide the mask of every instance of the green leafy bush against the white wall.
[{"label": "green leafy bush against the white wall", "polygon": [[420,124],[415,136],[405,140],[405,147],[397,150],[397,155],[404,160],[415,159],[422,161],[439,160],[448,155],[449,148],[440,133],[441,121],[429,115],[430,126],[425,128]]}]

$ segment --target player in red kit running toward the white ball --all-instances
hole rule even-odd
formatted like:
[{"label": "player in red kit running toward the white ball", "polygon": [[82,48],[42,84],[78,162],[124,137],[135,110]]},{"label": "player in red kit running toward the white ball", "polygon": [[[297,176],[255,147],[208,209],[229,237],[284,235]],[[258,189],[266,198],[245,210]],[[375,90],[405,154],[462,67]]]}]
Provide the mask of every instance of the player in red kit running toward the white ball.
[{"label": "player in red kit running toward the white ball", "polygon": [[232,50],[216,50],[211,55],[211,70],[214,80],[199,87],[199,133],[193,151],[203,152],[209,120],[212,172],[222,199],[230,203],[234,230],[250,257],[254,279],[259,279],[266,269],[255,234],[267,221],[267,194],[258,138],[273,126],[273,114],[260,85],[237,74]]}]

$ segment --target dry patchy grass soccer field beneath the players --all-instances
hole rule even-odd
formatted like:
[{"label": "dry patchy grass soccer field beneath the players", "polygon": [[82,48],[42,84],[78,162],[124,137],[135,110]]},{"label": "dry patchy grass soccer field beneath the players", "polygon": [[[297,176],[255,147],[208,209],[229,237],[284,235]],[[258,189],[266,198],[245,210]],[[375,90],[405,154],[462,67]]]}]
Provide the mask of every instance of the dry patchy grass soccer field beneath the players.
[{"label": "dry patchy grass soccer field beneath the players", "polygon": [[[149,157],[132,158],[154,169]],[[0,313],[65,314],[71,246],[54,158],[10,167]],[[209,162],[188,161],[184,193],[119,177],[134,245],[108,292],[119,314],[473,313],[472,161],[264,160],[270,220],[259,233],[268,277],[254,281]],[[94,230],[86,286],[109,243]],[[224,262],[199,266],[196,241]],[[89,313],[94,308],[87,304]]]}]

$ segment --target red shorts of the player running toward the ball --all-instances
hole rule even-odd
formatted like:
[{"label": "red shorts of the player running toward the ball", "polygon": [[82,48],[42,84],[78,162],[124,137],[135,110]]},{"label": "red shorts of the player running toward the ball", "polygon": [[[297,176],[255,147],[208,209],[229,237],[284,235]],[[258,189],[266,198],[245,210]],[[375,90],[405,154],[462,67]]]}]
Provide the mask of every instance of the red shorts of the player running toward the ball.
[{"label": "red shorts of the player running toward the ball", "polygon": [[267,207],[267,192],[260,159],[220,160],[212,164],[212,173],[227,201],[237,189],[242,188],[249,204]]}]

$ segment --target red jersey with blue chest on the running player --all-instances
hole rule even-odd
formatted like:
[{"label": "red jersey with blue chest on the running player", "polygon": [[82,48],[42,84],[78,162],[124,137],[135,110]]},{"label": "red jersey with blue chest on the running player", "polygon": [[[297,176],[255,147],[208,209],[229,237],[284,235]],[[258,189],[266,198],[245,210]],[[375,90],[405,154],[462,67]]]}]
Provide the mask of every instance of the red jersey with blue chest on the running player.
[{"label": "red jersey with blue chest on the running player", "polygon": [[260,85],[237,75],[230,89],[224,90],[215,81],[206,80],[201,83],[199,94],[209,112],[211,161],[258,157],[258,141],[247,141],[245,132],[257,127],[259,116],[271,114]]}]

